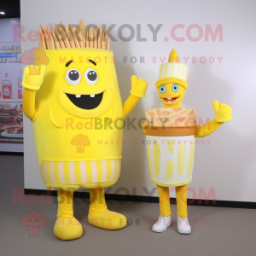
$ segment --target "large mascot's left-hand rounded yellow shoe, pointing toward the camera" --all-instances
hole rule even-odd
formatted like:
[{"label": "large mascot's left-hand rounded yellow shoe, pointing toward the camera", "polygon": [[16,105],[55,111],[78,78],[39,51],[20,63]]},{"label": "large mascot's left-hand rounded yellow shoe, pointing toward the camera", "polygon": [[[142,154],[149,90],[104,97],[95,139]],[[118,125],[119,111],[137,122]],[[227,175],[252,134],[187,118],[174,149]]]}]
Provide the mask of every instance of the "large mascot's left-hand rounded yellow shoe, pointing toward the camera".
[{"label": "large mascot's left-hand rounded yellow shoe, pointing toward the camera", "polygon": [[79,221],[72,218],[57,218],[55,222],[55,236],[61,240],[74,240],[82,236],[83,228]]}]

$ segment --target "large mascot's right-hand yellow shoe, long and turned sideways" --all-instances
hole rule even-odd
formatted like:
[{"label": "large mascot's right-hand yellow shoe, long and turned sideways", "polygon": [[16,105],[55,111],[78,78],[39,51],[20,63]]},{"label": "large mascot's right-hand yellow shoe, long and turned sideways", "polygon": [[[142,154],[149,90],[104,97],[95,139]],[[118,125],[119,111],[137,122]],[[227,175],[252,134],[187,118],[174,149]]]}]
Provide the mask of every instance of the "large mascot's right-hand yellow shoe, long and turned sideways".
[{"label": "large mascot's right-hand yellow shoe, long and turned sideways", "polygon": [[90,224],[104,230],[120,230],[125,228],[127,220],[123,214],[118,212],[89,213],[88,221]]}]

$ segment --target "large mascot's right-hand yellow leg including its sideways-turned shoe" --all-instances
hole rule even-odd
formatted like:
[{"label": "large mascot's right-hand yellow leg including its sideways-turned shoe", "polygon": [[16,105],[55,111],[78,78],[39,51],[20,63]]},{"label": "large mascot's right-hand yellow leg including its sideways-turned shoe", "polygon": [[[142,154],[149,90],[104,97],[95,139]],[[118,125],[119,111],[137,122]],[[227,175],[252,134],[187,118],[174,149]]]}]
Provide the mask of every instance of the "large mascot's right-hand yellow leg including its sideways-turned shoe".
[{"label": "large mascot's right-hand yellow leg including its sideways-turned shoe", "polygon": [[90,224],[104,230],[120,230],[126,226],[124,215],[108,211],[104,189],[90,189],[90,210],[88,214]]}]

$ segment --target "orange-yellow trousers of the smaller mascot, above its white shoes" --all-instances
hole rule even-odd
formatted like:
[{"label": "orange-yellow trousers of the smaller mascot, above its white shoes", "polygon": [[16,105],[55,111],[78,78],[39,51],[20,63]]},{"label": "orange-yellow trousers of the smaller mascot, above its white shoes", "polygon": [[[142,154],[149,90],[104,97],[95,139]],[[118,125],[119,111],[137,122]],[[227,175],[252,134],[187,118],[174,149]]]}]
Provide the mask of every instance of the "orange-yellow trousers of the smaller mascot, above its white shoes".
[{"label": "orange-yellow trousers of the smaller mascot, above its white shoes", "polygon": [[[172,215],[170,205],[170,195],[168,187],[161,187],[157,185],[160,203],[160,216]],[[187,212],[187,185],[176,187],[176,201],[177,201],[177,216],[185,218],[188,216]]]}]

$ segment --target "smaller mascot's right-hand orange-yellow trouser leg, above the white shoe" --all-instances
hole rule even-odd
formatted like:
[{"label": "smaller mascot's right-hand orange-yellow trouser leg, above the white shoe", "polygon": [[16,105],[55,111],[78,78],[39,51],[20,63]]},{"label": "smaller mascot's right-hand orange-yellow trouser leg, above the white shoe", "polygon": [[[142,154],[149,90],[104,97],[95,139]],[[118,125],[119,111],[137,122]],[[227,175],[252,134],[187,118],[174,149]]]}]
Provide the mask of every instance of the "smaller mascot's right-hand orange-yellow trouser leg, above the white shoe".
[{"label": "smaller mascot's right-hand orange-yellow trouser leg, above the white shoe", "polygon": [[180,218],[188,217],[187,187],[187,185],[176,187],[177,216]]}]

